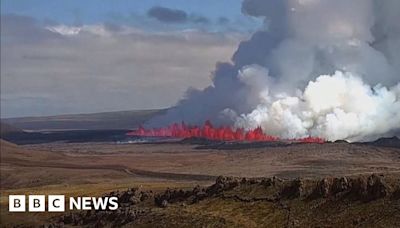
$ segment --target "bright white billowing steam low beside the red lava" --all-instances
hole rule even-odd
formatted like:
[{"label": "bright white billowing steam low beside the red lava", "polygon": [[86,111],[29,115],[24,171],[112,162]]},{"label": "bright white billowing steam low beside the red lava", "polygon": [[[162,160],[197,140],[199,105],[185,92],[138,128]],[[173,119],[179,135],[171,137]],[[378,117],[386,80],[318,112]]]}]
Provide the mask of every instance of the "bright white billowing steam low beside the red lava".
[{"label": "bright white billowing steam low beside the red lava", "polygon": [[[260,77],[258,68],[248,67],[240,74],[256,90],[263,83],[255,78]],[[251,113],[231,114],[236,127],[261,126],[265,132],[284,138],[311,135],[357,141],[385,134],[400,123],[400,84],[390,89],[380,85],[371,88],[360,77],[337,71],[310,81],[297,96],[275,94],[270,90],[273,86],[264,84],[260,104]]]}]

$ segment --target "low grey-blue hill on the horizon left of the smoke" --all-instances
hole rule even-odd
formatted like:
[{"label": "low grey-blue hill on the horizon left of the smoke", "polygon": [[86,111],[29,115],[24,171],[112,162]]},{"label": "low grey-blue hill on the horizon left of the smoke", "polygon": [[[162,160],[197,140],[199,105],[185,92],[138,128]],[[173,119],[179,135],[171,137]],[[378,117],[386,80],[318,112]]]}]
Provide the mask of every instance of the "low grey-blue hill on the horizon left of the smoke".
[{"label": "low grey-blue hill on the horizon left of the smoke", "polygon": [[44,117],[6,118],[1,121],[6,124],[5,129],[9,129],[9,125],[23,130],[132,129],[157,115],[164,114],[166,110],[167,109],[155,109]]}]

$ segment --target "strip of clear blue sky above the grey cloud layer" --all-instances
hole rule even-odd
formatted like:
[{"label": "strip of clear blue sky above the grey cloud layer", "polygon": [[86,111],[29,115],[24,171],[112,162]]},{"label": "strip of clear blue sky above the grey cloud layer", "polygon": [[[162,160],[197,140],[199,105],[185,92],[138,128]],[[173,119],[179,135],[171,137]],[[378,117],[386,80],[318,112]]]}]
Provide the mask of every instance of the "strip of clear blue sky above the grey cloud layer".
[{"label": "strip of clear blue sky above the grey cloud layer", "polygon": [[[147,11],[154,6],[183,10],[188,14],[210,20],[201,28],[209,30],[254,31],[261,23],[241,13],[241,0],[2,0],[2,14],[30,16],[39,21],[53,21],[67,25],[112,22],[128,24],[145,29],[160,28],[149,20]],[[229,7],[227,7],[229,6]],[[229,25],[216,25],[219,18],[227,18]],[[198,27],[187,23],[167,28]],[[165,26],[163,27],[165,29]]]}]

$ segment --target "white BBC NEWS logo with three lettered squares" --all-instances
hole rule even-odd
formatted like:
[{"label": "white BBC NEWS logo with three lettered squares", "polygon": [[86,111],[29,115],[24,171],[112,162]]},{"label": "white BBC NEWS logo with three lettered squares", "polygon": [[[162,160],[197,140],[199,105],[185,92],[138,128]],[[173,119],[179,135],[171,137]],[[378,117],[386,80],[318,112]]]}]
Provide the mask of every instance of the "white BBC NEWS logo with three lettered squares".
[{"label": "white BBC NEWS logo with three lettered squares", "polygon": [[[28,201],[26,200],[28,199]],[[47,203],[46,203],[47,202]],[[28,208],[26,208],[28,205]],[[64,212],[65,196],[48,195],[9,195],[8,211],[10,212]],[[117,210],[118,198],[113,197],[69,197],[69,210]],[[28,209],[28,210],[27,210]]]}]

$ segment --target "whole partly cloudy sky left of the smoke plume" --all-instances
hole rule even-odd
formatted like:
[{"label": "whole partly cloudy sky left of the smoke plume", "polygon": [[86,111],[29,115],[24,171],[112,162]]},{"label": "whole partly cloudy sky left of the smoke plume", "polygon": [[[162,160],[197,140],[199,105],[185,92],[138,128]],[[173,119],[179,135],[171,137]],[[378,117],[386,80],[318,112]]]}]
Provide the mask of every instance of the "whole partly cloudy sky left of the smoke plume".
[{"label": "whole partly cloudy sky left of the smoke plume", "polygon": [[174,106],[260,26],[240,0],[1,0],[1,117]]}]

